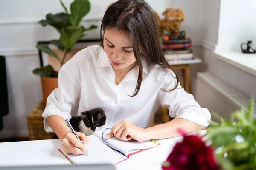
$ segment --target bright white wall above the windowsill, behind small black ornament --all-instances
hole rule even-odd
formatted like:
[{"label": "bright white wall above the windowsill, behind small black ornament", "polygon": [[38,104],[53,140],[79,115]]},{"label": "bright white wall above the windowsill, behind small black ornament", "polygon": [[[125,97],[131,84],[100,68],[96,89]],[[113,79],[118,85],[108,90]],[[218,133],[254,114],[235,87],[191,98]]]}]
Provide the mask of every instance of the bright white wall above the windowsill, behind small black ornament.
[{"label": "bright white wall above the windowsill, behind small black ornament", "polygon": [[255,0],[221,1],[219,37],[216,50],[240,51],[241,43],[247,43],[248,40],[253,41],[253,48],[256,49],[255,10]]}]

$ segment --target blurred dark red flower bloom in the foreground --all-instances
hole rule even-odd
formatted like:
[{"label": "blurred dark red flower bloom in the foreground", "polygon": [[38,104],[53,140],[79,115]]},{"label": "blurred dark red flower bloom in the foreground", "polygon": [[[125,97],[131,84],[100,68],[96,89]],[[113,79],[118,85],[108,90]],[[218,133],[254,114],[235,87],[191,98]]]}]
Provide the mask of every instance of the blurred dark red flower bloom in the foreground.
[{"label": "blurred dark red flower bloom in the foreground", "polygon": [[199,136],[185,135],[163,163],[163,170],[218,170],[211,147]]}]

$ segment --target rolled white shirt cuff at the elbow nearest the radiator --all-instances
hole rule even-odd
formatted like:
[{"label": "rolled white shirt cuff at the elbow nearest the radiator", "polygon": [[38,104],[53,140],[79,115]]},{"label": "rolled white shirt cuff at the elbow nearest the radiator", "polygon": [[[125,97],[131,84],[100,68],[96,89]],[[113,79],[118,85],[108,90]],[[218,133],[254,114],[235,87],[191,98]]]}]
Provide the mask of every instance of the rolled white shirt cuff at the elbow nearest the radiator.
[{"label": "rolled white shirt cuff at the elbow nearest the radiator", "polygon": [[180,111],[178,116],[175,117],[175,119],[177,118],[186,119],[190,122],[207,127],[211,120],[211,114],[207,108],[201,108],[200,113],[198,113],[198,111],[183,109],[182,111]]}]

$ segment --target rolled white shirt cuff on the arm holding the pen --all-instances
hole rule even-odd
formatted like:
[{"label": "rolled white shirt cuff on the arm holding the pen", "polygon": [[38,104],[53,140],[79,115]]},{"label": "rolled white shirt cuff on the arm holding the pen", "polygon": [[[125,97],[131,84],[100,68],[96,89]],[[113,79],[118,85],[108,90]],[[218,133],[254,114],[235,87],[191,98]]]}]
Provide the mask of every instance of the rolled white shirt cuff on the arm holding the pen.
[{"label": "rolled white shirt cuff on the arm holding the pen", "polygon": [[42,114],[42,117],[44,118],[44,130],[48,133],[51,133],[51,132],[54,132],[52,130],[52,128],[49,126],[48,122],[47,122],[47,117],[51,116],[51,115],[58,115],[58,116],[61,116],[63,117],[63,119],[68,119],[70,120],[71,119],[71,114],[70,113],[67,113],[67,112],[62,112],[62,111],[50,111],[48,113],[43,113]]}]

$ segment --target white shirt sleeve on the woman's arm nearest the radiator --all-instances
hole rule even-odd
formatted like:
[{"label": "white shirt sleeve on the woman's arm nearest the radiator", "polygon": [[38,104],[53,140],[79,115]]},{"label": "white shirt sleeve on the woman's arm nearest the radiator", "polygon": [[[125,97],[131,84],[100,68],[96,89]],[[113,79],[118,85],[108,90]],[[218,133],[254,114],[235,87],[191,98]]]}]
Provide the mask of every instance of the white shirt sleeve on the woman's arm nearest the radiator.
[{"label": "white shirt sleeve on the woman's arm nearest the radiator", "polygon": [[[161,78],[163,84],[159,91],[159,100],[161,105],[166,105],[169,109],[169,116],[172,118],[187,119],[196,124],[207,127],[209,125],[211,114],[207,108],[201,108],[195,101],[192,94],[187,93],[180,85],[175,88],[177,79],[172,71],[165,71]],[[165,92],[162,89],[172,90]]]}]

